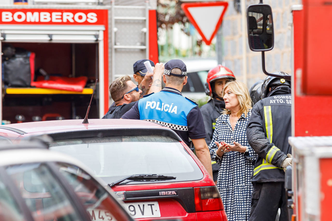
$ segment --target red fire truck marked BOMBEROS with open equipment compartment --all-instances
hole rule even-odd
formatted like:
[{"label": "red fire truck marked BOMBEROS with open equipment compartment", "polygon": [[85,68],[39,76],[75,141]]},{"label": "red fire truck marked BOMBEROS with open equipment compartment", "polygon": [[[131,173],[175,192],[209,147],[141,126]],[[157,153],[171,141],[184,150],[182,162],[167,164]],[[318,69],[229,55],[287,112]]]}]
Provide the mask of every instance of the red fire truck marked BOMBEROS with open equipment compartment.
[{"label": "red fire truck marked BOMBEROS with open equipment compartment", "polygon": [[[2,49],[10,45],[16,52],[31,52],[29,86],[2,82],[0,120],[84,118],[96,79],[89,117],[101,118],[109,108],[109,84],[115,78],[131,75],[137,60],[158,62],[156,0],[140,6],[119,6],[107,0],[30,3],[0,6]],[[4,77],[4,56],[2,61]],[[37,78],[37,70],[47,73],[47,79]],[[74,89],[49,81],[54,78],[69,79]],[[76,90],[75,83],[82,78],[83,85]]]}]

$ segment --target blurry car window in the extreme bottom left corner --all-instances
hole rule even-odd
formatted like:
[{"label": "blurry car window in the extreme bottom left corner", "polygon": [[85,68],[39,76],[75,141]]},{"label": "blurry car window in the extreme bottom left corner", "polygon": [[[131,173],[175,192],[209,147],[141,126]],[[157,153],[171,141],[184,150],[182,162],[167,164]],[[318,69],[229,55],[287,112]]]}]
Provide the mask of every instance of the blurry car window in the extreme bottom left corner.
[{"label": "blurry car window in the extreme bottom left corner", "polygon": [[0,179],[0,220],[24,221],[23,212],[20,210],[8,188]]}]

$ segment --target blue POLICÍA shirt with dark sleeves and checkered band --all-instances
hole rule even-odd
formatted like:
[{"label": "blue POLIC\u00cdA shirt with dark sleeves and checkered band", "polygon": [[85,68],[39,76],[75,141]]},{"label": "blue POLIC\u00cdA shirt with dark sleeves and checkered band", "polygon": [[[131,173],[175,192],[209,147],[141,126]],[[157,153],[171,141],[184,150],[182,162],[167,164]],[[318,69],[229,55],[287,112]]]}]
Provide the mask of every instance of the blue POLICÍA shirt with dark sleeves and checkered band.
[{"label": "blue POLIC\u00cdA shirt with dark sleeves and checkered band", "polygon": [[171,87],[140,99],[121,118],[146,120],[171,128],[187,145],[189,138],[206,138],[198,105]]}]

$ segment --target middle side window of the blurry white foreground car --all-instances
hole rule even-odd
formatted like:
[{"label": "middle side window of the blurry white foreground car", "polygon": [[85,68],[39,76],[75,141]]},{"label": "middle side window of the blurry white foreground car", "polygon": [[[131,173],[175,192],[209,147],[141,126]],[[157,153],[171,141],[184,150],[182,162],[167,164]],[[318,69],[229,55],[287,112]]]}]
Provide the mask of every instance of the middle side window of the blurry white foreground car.
[{"label": "middle side window of the blurry white foreground car", "polygon": [[80,220],[66,192],[42,163],[12,165],[7,173],[19,189],[35,220]]}]

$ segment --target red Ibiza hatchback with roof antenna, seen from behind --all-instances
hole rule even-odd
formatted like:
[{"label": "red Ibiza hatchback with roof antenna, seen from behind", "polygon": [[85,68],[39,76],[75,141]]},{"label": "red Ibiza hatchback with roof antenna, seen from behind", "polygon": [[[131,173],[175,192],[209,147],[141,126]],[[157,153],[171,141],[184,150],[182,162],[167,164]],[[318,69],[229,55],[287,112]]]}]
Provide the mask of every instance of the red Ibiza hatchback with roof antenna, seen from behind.
[{"label": "red Ibiza hatchback with roof antenna, seen from behind", "polygon": [[226,221],[212,178],[181,138],[159,124],[124,119],[41,121],[0,127],[0,137],[47,134],[51,150],[86,164],[136,220]]}]

